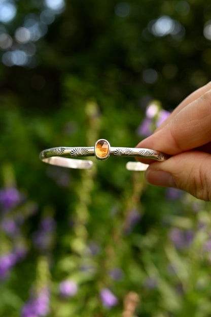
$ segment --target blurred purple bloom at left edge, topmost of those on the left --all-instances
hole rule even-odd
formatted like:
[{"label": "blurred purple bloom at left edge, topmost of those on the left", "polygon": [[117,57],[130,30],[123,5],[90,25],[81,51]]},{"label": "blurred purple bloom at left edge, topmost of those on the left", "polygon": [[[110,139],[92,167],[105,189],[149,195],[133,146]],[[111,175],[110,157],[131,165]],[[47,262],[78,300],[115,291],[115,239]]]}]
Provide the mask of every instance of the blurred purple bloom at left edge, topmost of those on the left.
[{"label": "blurred purple bloom at left edge, topmost of those on the left", "polygon": [[22,200],[23,195],[15,187],[0,190],[0,203],[5,210],[16,207]]}]

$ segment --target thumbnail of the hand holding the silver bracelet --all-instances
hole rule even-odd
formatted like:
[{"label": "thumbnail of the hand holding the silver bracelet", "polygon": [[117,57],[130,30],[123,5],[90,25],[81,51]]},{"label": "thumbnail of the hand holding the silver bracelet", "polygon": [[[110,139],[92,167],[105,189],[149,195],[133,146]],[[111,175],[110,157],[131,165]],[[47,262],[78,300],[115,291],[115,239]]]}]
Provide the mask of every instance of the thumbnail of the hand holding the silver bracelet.
[{"label": "thumbnail of the hand holding the silver bracelet", "polygon": [[145,173],[146,181],[155,186],[177,187],[173,176],[168,172],[148,169]]}]

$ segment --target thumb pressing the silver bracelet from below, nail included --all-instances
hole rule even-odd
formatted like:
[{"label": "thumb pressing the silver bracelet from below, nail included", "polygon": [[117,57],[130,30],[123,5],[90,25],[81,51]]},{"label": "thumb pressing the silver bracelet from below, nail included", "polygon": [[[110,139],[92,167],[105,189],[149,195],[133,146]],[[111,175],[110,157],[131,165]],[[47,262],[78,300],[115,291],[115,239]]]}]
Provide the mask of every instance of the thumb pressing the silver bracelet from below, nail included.
[{"label": "thumb pressing the silver bracelet from below, nail included", "polygon": [[211,201],[211,154],[187,151],[164,162],[150,164],[145,174],[148,183],[183,189],[196,198]]}]

